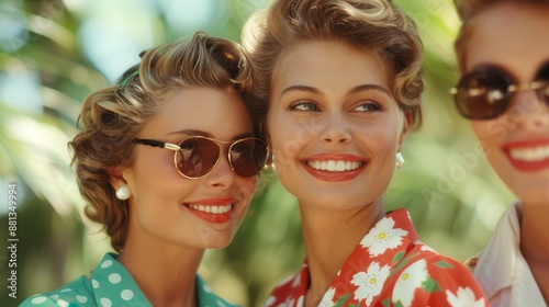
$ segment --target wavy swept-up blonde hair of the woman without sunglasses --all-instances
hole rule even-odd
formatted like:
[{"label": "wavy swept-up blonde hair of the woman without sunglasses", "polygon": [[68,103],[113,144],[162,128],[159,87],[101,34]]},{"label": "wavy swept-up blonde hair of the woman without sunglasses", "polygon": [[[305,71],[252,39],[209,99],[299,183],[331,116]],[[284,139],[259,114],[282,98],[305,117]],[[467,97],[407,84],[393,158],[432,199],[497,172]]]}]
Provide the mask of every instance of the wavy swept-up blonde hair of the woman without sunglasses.
[{"label": "wavy swept-up blonde hair of the woman without sunglasses", "polygon": [[243,30],[243,45],[254,70],[254,116],[265,122],[273,75],[284,50],[305,41],[341,42],[389,59],[392,94],[422,124],[423,44],[412,19],[391,0],[274,0],[256,12]]}]

